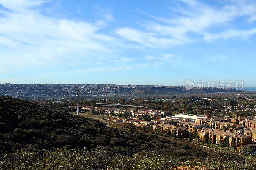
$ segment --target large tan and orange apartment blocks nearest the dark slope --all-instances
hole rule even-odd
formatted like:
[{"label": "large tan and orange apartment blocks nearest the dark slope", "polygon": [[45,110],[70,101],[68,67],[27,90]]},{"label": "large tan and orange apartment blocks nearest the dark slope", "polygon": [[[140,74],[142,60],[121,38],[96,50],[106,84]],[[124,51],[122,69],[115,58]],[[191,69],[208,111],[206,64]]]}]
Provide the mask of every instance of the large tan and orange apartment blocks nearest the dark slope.
[{"label": "large tan and orange apartment blocks nearest the dark slope", "polygon": [[[227,122],[223,122],[227,123]],[[230,129],[228,131],[221,129],[219,126],[210,127],[212,124],[199,124],[196,122],[179,122],[177,126],[167,125],[163,123],[153,125],[153,129],[157,128],[160,131],[165,133],[169,131],[170,135],[176,134],[176,137],[187,138],[188,133],[196,133],[199,136],[200,141],[205,141],[210,138],[213,144],[220,144],[220,141],[224,143],[224,139],[228,138],[229,145],[231,146],[232,142],[236,144],[237,149],[240,149],[240,146],[243,146],[244,151],[248,148],[249,145],[252,146],[252,149],[256,149],[256,129]]]}]

